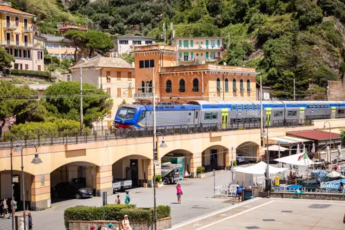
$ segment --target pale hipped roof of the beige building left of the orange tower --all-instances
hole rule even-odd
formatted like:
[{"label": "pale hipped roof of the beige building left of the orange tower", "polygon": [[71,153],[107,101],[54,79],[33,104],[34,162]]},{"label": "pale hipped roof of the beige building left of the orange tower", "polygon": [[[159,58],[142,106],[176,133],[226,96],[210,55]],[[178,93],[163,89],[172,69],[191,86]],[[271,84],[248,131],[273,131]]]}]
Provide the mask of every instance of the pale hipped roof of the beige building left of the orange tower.
[{"label": "pale hipped roof of the beige building left of the orange tower", "polygon": [[70,69],[75,68],[133,68],[132,65],[128,64],[124,59],[117,58],[117,57],[93,57],[92,59],[88,59],[82,64],[72,66]]}]

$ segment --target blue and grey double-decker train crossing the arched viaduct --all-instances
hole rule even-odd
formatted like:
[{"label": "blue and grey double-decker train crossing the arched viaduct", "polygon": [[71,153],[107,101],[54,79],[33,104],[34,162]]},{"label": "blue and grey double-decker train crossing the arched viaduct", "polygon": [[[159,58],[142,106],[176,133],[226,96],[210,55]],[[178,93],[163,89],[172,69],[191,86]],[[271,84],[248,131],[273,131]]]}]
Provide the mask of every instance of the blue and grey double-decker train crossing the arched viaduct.
[{"label": "blue and grey double-decker train crossing the arched viaduct", "polygon": [[[153,126],[153,106],[126,104],[115,116],[117,128],[149,128]],[[190,101],[186,104],[161,102],[156,105],[156,125],[197,126],[204,124],[227,128],[235,124],[257,124],[263,117],[266,126],[314,119],[345,117],[345,102],[331,101]]]}]

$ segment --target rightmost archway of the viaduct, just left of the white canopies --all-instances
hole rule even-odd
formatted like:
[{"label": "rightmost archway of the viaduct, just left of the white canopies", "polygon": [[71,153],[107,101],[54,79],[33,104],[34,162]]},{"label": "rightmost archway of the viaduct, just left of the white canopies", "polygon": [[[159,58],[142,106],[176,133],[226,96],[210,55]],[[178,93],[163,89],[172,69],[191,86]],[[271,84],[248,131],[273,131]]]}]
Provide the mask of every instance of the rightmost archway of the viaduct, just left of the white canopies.
[{"label": "rightmost archway of the viaduct, just left of the white canopies", "polygon": [[[235,160],[235,159],[234,159]],[[256,162],[259,160],[259,144],[255,142],[244,142],[236,148],[236,162]]]}]

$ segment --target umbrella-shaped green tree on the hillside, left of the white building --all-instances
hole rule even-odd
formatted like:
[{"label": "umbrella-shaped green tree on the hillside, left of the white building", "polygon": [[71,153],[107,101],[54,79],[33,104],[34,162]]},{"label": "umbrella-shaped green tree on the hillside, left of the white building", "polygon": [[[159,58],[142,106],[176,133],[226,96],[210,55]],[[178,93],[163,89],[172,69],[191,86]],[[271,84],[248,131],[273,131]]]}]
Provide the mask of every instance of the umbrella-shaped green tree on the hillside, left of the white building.
[{"label": "umbrella-shaped green tree on the hillside, left of the white building", "polygon": [[114,48],[114,42],[108,35],[101,31],[90,30],[86,33],[86,47],[89,49],[89,57],[92,57],[94,51],[105,54],[110,49]]}]

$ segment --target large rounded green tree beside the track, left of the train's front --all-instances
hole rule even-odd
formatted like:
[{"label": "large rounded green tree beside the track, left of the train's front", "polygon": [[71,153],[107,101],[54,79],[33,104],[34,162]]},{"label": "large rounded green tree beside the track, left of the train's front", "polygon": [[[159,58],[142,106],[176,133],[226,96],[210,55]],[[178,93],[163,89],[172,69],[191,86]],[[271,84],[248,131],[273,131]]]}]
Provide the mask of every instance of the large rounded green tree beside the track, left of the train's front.
[{"label": "large rounded green tree beside the track, left of the train's front", "polygon": [[[59,82],[45,92],[48,111],[56,117],[78,121],[80,118],[79,82]],[[83,123],[91,126],[110,113],[112,99],[104,90],[83,83]]]}]

